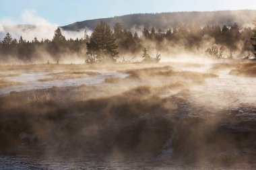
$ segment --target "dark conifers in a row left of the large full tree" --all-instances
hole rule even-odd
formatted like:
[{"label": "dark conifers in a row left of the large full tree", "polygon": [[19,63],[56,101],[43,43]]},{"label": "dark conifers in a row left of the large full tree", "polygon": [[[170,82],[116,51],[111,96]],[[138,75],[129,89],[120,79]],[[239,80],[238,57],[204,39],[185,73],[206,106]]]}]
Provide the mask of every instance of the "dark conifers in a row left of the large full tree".
[{"label": "dark conifers in a row left of the large full tree", "polygon": [[[86,37],[88,38],[88,37]],[[11,56],[24,61],[32,61],[37,58],[41,52],[46,52],[57,60],[63,54],[72,54],[73,52],[80,52],[86,46],[88,39],[66,39],[61,33],[61,29],[57,28],[52,40],[42,39],[27,41],[20,36],[19,40],[12,38],[11,34],[7,33],[0,42],[0,58],[7,60]]]}]

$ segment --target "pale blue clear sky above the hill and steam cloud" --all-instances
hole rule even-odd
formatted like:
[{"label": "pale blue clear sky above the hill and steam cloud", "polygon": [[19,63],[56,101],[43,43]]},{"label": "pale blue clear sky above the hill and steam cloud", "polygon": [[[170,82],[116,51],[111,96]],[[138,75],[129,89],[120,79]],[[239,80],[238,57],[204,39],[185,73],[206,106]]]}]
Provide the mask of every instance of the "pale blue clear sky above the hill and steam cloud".
[{"label": "pale blue clear sky above the hill and steam cloud", "polygon": [[24,24],[24,11],[33,11],[51,23],[64,26],[130,13],[226,9],[256,9],[256,0],[0,0],[0,22]]}]

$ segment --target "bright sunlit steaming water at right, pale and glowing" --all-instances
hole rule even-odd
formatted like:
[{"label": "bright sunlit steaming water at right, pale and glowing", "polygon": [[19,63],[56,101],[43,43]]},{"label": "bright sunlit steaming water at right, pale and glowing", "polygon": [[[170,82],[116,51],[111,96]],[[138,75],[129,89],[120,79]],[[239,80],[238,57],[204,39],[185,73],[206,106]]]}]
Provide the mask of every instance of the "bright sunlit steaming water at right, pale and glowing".
[{"label": "bright sunlit steaming water at right, pale and glowing", "polygon": [[[210,65],[188,68],[190,71],[210,73]],[[191,102],[212,110],[238,108],[241,105],[255,106],[255,77],[229,75],[230,70],[218,72],[217,78],[206,79],[205,84],[193,88]]]}]

